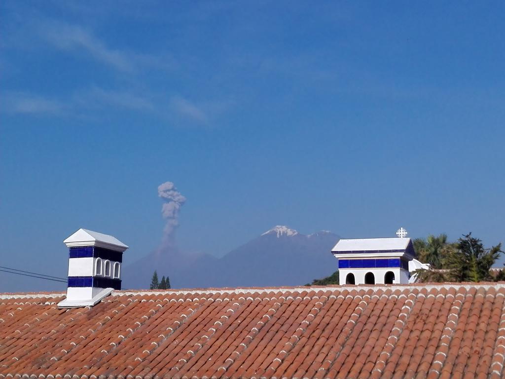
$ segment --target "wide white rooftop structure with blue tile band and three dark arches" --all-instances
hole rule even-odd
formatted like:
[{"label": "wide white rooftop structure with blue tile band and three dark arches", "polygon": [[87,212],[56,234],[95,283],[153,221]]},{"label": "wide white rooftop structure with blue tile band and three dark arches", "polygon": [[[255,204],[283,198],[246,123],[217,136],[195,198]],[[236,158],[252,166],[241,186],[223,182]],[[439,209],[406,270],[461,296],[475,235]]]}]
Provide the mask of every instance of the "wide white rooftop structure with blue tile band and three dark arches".
[{"label": "wide white rooftop structure with blue tile band and three dark arches", "polygon": [[339,283],[409,283],[409,261],[416,256],[410,238],[340,240],[332,249]]}]

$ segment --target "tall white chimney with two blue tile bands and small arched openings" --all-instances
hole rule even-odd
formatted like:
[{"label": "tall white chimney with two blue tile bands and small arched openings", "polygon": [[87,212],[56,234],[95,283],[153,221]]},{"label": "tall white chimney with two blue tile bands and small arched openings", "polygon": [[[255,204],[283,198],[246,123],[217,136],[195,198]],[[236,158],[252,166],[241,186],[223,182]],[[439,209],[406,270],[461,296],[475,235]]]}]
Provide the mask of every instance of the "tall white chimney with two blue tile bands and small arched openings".
[{"label": "tall white chimney with two blue tile bands and small arched openings", "polygon": [[79,229],[65,241],[69,248],[67,298],[59,307],[95,305],[121,290],[121,263],[128,246],[112,235]]}]

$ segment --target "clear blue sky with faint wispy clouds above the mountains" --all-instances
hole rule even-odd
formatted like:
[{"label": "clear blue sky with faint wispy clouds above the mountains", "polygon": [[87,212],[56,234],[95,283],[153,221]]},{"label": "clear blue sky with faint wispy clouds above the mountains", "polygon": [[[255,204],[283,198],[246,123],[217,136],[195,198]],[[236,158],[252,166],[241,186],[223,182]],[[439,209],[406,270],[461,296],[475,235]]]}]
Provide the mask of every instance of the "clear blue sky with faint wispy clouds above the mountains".
[{"label": "clear blue sky with faint wispy clouds above the mountains", "polygon": [[79,227],[149,253],[168,180],[188,252],[276,224],[505,240],[503,8],[0,3],[3,265],[65,276]]}]

